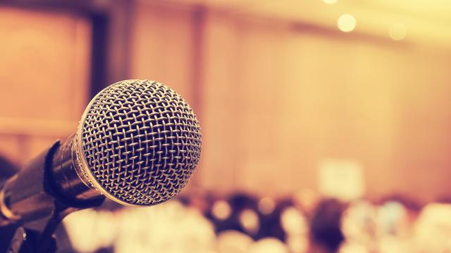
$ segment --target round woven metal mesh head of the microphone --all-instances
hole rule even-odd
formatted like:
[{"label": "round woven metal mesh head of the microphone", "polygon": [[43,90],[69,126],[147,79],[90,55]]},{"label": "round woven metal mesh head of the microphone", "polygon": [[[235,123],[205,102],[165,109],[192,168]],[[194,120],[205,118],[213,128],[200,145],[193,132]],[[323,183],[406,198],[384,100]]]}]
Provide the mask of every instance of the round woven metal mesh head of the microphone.
[{"label": "round woven metal mesh head of the microphone", "polygon": [[164,84],[125,80],[95,96],[75,138],[89,185],[123,205],[149,206],[184,188],[199,162],[190,105]]}]

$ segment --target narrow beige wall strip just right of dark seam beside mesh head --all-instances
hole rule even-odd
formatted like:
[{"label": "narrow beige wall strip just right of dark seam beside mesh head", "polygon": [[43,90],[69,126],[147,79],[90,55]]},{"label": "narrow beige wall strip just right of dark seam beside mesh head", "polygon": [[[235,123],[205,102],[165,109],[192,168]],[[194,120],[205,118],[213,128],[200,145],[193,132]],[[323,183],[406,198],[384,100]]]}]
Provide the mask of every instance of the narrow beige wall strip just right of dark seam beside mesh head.
[{"label": "narrow beige wall strip just right of dark seam beside mesh head", "polygon": [[238,100],[240,58],[237,24],[209,13],[204,30],[202,186],[228,192],[237,189],[242,176],[242,145]]}]

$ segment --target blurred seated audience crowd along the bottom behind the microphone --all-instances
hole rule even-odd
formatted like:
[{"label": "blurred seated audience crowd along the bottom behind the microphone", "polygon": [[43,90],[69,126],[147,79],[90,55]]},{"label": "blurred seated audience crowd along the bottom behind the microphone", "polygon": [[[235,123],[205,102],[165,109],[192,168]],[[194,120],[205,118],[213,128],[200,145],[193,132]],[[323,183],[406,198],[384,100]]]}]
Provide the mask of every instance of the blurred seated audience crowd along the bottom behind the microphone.
[{"label": "blurred seated audience crowd along the bottom behind the microphone", "polygon": [[[404,197],[323,199],[306,212],[292,198],[194,194],[152,208],[70,214],[78,252],[450,252],[451,205]],[[82,225],[82,226],[80,226]]]}]

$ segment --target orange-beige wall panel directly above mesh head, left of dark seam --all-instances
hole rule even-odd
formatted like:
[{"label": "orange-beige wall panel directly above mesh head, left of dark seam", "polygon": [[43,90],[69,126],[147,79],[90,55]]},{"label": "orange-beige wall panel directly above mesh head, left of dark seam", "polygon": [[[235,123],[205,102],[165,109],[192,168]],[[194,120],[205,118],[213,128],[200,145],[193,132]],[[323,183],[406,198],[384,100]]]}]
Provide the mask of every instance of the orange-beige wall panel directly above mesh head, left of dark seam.
[{"label": "orange-beige wall panel directly above mesh head, left of dark seam", "polygon": [[134,11],[130,78],[162,82],[192,102],[192,11],[145,1]]}]

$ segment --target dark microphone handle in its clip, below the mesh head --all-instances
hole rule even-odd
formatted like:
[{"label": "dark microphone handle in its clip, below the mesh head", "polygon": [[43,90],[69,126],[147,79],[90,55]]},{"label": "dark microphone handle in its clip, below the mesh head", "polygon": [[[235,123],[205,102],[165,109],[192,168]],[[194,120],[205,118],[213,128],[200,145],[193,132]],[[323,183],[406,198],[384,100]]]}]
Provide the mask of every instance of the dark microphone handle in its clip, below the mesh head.
[{"label": "dark microphone handle in its clip, below the mesh head", "polygon": [[4,183],[0,226],[23,223],[41,231],[53,216],[62,219],[78,209],[101,205],[105,197],[82,183],[74,169],[72,143],[73,136],[63,145],[56,141]]}]

